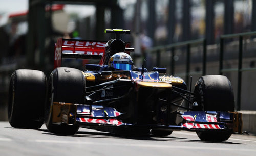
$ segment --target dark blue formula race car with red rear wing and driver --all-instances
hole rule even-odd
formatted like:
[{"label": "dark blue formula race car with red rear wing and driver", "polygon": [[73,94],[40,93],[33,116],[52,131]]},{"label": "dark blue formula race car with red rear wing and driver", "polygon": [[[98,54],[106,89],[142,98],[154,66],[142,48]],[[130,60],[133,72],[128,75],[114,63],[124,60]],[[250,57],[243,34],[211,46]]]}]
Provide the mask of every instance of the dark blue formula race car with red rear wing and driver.
[{"label": "dark blue formula race car with red rear wing and driver", "polygon": [[[191,92],[180,77],[164,75],[166,68],[135,67],[129,55],[134,49],[119,37],[129,30],[105,33],[116,38],[58,39],[48,82],[41,71],[14,71],[8,102],[11,126],[38,129],[45,122],[50,132],[59,134],[74,134],[79,127],[150,136],[187,130],[206,141],[224,141],[241,133],[241,113],[233,112],[227,77],[202,76]],[[101,60],[81,71],[61,67],[62,58]],[[184,101],[188,106],[182,105]]]}]

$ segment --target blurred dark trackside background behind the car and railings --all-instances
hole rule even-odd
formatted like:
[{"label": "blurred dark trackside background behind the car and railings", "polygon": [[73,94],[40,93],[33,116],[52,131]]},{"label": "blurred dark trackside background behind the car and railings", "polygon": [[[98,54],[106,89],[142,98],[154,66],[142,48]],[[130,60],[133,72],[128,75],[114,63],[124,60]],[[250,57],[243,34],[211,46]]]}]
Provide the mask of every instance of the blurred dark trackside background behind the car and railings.
[{"label": "blurred dark trackside background behind the car and railings", "polygon": [[[42,70],[49,76],[53,70],[54,43],[59,37],[105,41],[114,36],[104,34],[104,29],[131,30],[131,35],[122,35],[121,39],[135,47],[133,57],[137,66],[146,59],[148,69],[171,68],[167,74],[184,79],[189,73],[193,75],[190,83],[195,84],[205,73],[219,74],[222,35],[256,30],[254,0],[9,0],[0,4],[1,114],[7,112],[11,73],[26,68]],[[224,41],[223,68],[237,68],[238,39]],[[175,47],[175,53],[174,49],[165,48],[191,40],[200,41],[189,44],[189,57],[187,46]],[[236,102],[242,103],[237,110],[256,110],[254,42],[253,35],[242,41],[242,66],[251,69],[242,73],[242,84],[238,83],[237,69],[222,72],[233,85]],[[204,49],[205,72],[201,65]],[[68,65],[83,69],[80,61],[70,61]],[[237,99],[239,94],[241,99]],[[0,120],[7,120],[6,115]]]}]

